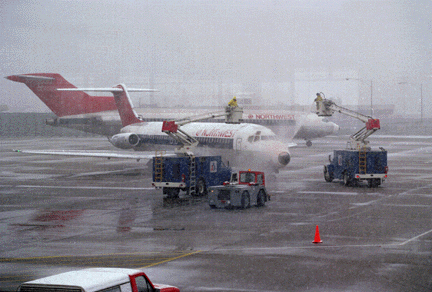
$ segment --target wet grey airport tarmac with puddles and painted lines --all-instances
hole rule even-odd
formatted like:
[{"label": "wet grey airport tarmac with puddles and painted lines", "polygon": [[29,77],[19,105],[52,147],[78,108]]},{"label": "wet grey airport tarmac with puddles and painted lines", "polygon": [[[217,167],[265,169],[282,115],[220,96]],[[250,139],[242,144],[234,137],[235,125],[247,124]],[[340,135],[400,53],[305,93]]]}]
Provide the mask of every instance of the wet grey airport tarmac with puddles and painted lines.
[{"label": "wet grey airport tarmac with puddles and painted lines", "polygon": [[390,169],[373,189],[324,181],[346,139],[292,148],[272,200],[247,210],[164,204],[144,162],[11,151],[111,149],[104,138],[3,139],[0,290],[93,266],[182,291],[432,290],[432,137],[372,137]]}]

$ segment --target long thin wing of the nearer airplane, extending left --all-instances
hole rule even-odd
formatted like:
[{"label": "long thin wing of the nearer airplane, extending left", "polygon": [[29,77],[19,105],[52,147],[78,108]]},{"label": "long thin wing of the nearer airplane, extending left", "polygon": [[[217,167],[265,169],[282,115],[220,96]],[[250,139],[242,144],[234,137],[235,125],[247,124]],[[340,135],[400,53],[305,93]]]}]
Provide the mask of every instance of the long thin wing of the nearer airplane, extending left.
[{"label": "long thin wing of the nearer airplane, extending left", "polygon": [[[119,159],[153,159],[154,154],[144,153],[116,153],[116,152],[100,152],[100,151],[81,151],[81,150],[18,150],[14,149],[14,152],[28,153],[28,154],[42,154],[42,155],[61,155],[61,156],[80,156],[80,157],[98,157],[98,158],[119,158]],[[176,156],[174,153],[164,154],[166,156]]]}]

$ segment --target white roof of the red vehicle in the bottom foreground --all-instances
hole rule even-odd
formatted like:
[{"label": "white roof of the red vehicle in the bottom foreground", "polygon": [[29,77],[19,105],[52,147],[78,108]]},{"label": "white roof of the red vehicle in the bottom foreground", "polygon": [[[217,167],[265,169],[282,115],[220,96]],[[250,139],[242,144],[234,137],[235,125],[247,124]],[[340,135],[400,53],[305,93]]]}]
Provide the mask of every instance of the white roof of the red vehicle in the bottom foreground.
[{"label": "white roof of the red vehicle in the bottom foreground", "polygon": [[134,269],[90,268],[25,282],[23,285],[77,286],[90,292],[129,282],[129,275],[140,272]]}]

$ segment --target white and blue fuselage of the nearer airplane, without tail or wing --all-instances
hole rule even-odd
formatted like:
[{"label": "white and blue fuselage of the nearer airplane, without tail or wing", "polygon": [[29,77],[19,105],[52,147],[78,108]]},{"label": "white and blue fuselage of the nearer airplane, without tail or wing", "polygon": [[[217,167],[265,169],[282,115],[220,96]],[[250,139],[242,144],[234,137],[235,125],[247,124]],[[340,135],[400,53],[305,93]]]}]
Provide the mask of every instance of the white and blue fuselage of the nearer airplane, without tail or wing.
[{"label": "white and blue fuselage of the nearer airplane, without tail or wing", "polygon": [[[161,129],[162,122],[132,124],[122,128],[120,134],[114,135],[111,143],[119,148],[134,150],[154,150],[163,146],[179,145]],[[237,165],[277,170],[288,165],[290,161],[288,146],[279,141],[273,131],[261,125],[189,123],[181,129],[197,139],[198,146],[205,148],[204,152],[224,154]],[[203,150],[198,152],[202,153]]]}]

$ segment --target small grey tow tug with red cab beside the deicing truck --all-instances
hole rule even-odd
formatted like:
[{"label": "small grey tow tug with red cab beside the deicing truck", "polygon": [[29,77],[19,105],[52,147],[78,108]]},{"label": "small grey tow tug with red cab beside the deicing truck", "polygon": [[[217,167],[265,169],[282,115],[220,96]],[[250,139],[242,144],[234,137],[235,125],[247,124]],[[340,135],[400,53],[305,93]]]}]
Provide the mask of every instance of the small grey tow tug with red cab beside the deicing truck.
[{"label": "small grey tow tug with red cab beside the deicing truck", "polygon": [[210,208],[262,207],[270,200],[265,187],[265,175],[261,171],[239,171],[231,174],[229,182],[208,189]]}]

